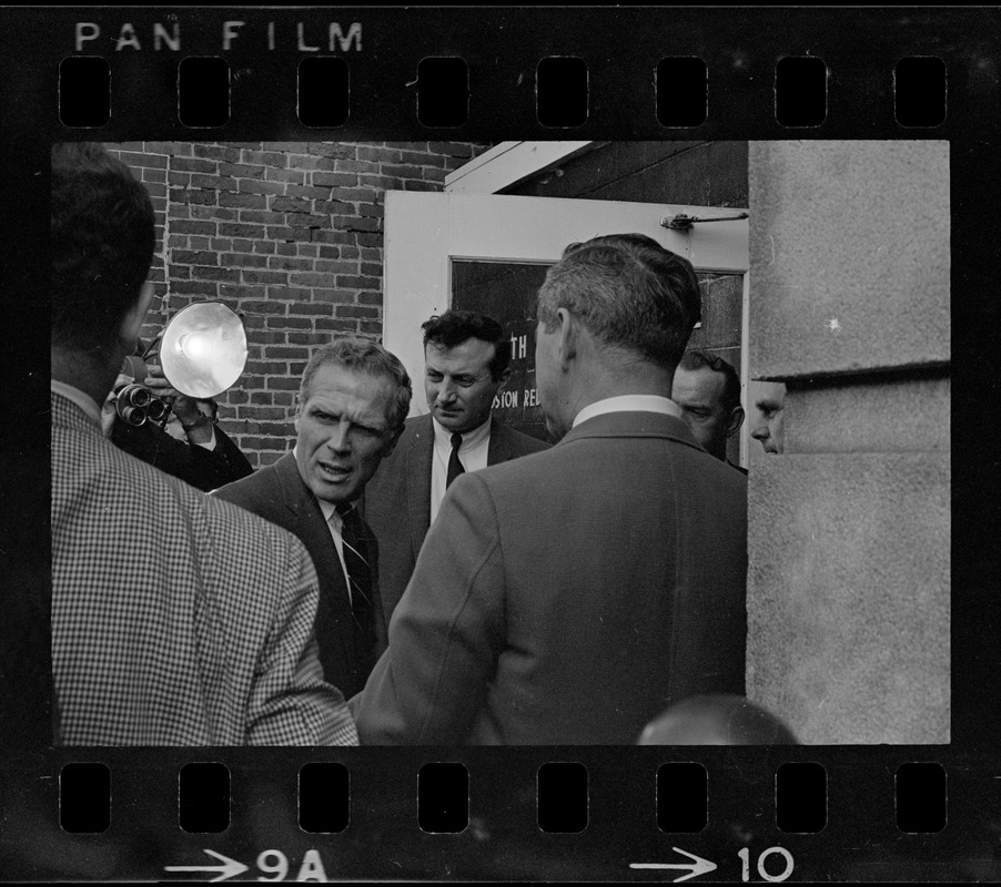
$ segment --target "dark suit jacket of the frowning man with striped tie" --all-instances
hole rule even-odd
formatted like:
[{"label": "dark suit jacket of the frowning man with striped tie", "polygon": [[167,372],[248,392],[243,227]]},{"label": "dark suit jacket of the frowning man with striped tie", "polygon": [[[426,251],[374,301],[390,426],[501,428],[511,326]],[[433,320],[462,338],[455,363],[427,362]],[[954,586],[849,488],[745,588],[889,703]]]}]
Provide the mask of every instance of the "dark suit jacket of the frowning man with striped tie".
[{"label": "dark suit jacket of the frowning man with striped tie", "polygon": [[351,598],[344,582],[341,559],[320,504],[299,473],[295,457],[286,452],[274,465],[228,483],[213,495],[284,527],[302,540],[320,575],[316,640],[324,676],[344,695],[357,693],[365,685],[365,679],[376,659],[386,649],[386,622],[377,579],[378,548],[371,528],[362,521],[362,541],[367,548],[366,560],[372,568],[372,611],[376,644],[374,650],[360,657],[354,642],[357,626],[351,612]]}]

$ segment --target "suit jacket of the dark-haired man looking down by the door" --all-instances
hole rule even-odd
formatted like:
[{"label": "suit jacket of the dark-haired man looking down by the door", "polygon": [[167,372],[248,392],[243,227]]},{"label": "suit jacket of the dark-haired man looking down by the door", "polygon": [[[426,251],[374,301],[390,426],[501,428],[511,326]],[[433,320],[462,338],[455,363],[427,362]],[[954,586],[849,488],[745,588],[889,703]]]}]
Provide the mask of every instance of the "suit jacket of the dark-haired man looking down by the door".
[{"label": "suit jacket of the dark-haired man looking down by the door", "polygon": [[[487,465],[498,465],[549,443],[502,425],[491,424]],[[393,453],[383,461],[365,488],[365,520],[380,546],[378,584],[386,622],[393,614],[417,562],[431,526],[431,463],[434,427],[431,414],[407,419]]]}]

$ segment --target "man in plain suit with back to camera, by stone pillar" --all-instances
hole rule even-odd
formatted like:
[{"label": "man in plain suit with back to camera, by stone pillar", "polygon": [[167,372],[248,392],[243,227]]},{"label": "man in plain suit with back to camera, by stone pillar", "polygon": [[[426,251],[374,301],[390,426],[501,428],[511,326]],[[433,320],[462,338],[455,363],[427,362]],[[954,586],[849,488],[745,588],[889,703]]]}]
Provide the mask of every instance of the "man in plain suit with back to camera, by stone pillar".
[{"label": "man in plain suit with back to camera, by stone pillar", "polygon": [[744,693],[747,479],[666,392],[691,265],[638,234],[567,248],[539,290],[552,449],[458,478],[352,700],[368,744],[633,744]]}]

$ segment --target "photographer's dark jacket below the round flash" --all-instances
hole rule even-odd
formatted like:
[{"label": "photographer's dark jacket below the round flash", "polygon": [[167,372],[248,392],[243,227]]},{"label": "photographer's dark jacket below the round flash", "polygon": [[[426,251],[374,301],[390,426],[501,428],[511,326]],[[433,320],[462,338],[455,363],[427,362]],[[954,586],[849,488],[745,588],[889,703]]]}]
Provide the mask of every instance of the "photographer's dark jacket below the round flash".
[{"label": "photographer's dark jacket below the round flash", "polygon": [[171,437],[159,425],[132,426],[115,418],[111,440],[136,459],[180,478],[204,492],[253,473],[240,448],[215,426],[215,449],[185,443]]}]

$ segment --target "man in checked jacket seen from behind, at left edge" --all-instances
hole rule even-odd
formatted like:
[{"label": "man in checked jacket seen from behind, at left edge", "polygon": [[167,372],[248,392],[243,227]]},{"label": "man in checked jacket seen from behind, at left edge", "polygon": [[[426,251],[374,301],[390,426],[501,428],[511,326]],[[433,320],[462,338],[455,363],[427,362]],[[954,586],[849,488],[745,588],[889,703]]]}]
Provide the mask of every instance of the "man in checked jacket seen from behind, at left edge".
[{"label": "man in checked jacket seen from behind, at left edge", "polygon": [[64,745],[356,744],[291,533],[119,450],[100,410],[152,298],[149,195],[52,151],[52,677]]}]

